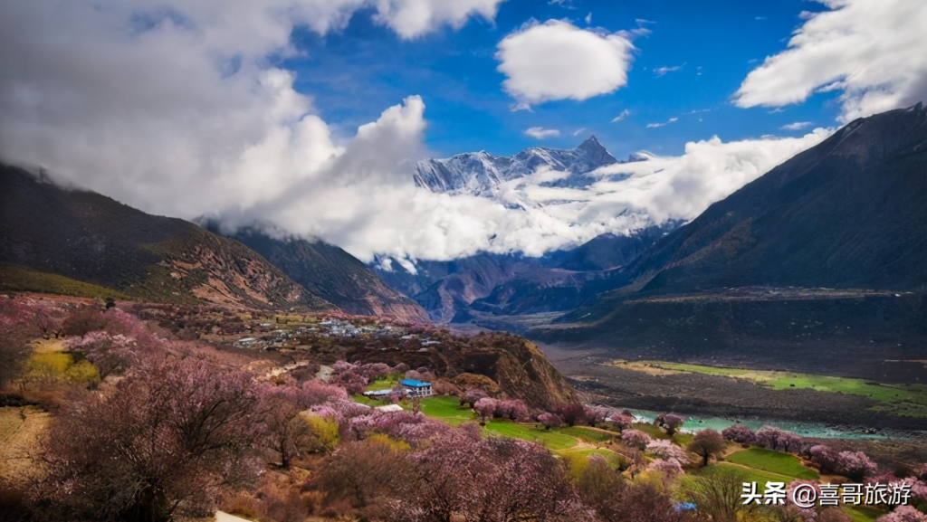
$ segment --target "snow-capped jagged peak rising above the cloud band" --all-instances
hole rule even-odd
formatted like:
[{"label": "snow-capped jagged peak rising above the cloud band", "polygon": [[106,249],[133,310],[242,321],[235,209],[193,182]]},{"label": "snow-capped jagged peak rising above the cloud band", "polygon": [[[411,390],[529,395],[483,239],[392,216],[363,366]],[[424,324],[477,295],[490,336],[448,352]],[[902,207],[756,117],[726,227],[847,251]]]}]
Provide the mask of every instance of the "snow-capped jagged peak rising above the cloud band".
[{"label": "snow-capped jagged peak rising above the cloud band", "polygon": [[566,175],[544,185],[588,186],[595,178],[587,173],[618,162],[595,136],[591,136],[570,150],[532,146],[514,156],[493,156],[480,151],[447,159],[423,159],[415,165],[414,179],[415,185],[432,192],[488,196],[505,182],[545,170]]}]

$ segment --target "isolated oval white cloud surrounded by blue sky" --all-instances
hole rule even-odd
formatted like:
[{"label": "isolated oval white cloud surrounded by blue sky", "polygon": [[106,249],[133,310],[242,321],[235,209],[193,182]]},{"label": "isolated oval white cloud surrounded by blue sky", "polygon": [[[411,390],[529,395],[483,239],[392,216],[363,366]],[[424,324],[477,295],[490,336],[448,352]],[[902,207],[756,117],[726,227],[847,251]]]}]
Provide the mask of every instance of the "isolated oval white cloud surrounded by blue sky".
[{"label": "isolated oval white cloud surrounded by blue sky", "polygon": [[498,45],[505,91],[526,104],[585,100],[628,83],[634,45],[626,35],[582,30],[560,20],[532,22]]}]

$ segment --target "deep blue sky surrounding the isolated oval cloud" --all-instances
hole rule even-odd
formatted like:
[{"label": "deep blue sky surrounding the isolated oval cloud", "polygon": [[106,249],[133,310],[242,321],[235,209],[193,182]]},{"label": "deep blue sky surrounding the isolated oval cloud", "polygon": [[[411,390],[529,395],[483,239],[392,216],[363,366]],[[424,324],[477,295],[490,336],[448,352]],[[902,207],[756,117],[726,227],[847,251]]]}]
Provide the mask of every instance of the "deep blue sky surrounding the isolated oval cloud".
[{"label": "deep blue sky surrounding the isolated oval cloud", "polygon": [[[474,18],[459,31],[445,27],[411,41],[358,12],[342,31],[294,32],[293,44],[304,54],[282,65],[298,73],[295,88],[311,95],[324,120],[337,122],[345,135],[404,96],[421,95],[429,125],[425,144],[439,156],[480,149],[508,155],[535,145],[569,148],[590,134],[619,157],[640,149],[679,154],[687,141],[715,134],[728,141],[803,134],[780,129],[795,121],[835,124],[840,107],[830,103],[834,95],[815,95],[772,114],[769,108],[730,103],[750,70],[785,48],[803,22],[799,13],[814,9],[823,6],[802,0],[574,1],[567,6],[510,0],[499,7],[494,23]],[[650,33],[634,38],[628,84],[616,92],[513,112],[513,98],[502,90],[505,75],[497,70],[496,45],[530,19],[568,19],[607,32],[643,27]],[[626,109],[627,119],[611,122]],[[678,120],[646,127],[671,118]],[[523,134],[536,126],[561,135],[540,142]]]}]

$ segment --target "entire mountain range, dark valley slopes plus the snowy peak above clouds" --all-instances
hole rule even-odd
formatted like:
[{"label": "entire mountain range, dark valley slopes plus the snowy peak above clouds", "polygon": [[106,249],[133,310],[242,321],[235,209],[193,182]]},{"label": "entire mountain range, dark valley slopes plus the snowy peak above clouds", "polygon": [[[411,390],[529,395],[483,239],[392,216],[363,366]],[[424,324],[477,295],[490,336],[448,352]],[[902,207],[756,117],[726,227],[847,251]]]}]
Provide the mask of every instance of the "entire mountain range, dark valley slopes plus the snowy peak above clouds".
[{"label": "entire mountain range, dark valley slopes plus the snowy peak above clouds", "polygon": [[[593,137],[572,150],[427,160],[413,175],[438,192],[493,197],[538,168],[567,172],[555,183],[582,184],[616,161]],[[6,289],[337,308],[514,329],[615,357],[927,378],[916,363],[927,360],[921,104],[848,123],[690,223],[540,258],[479,253],[368,267],[321,241],[259,226],[221,236],[209,223],[152,216],[14,167],[0,168],[0,204]]]}]

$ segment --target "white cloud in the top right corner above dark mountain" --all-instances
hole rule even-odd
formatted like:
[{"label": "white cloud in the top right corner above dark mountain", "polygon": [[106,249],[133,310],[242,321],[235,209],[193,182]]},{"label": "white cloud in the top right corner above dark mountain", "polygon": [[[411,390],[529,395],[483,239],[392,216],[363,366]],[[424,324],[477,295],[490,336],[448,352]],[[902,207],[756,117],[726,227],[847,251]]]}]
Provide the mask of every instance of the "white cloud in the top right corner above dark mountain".
[{"label": "white cloud in the top right corner above dark mountain", "polygon": [[840,92],[841,121],[927,98],[927,2],[819,0],[788,49],[751,71],[739,107],[781,107],[816,92]]}]

